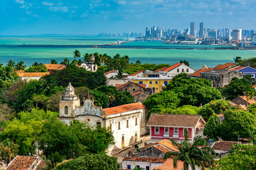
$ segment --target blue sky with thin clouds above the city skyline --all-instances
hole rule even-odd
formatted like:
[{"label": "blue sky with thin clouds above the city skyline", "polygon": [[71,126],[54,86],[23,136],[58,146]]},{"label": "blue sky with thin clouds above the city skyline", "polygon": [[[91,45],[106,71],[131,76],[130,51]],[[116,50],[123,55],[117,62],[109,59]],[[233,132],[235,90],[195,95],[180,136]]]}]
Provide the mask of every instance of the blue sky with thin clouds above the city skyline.
[{"label": "blue sky with thin clouds above the city skyline", "polygon": [[146,27],[256,29],[256,0],[0,0],[0,35],[144,33]]}]

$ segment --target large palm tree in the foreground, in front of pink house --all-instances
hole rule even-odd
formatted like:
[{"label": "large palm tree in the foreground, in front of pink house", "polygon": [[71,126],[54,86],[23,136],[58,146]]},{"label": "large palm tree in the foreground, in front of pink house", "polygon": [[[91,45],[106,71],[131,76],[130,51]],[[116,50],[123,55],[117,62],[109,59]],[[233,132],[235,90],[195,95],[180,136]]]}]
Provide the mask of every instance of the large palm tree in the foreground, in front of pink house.
[{"label": "large palm tree in the foreground, in front of pink house", "polygon": [[[186,131],[186,132],[185,132]],[[174,168],[177,167],[177,162],[184,162],[184,170],[188,170],[188,167],[196,170],[196,167],[201,167],[204,169],[205,166],[213,166],[213,155],[215,154],[214,150],[210,147],[206,147],[207,142],[203,139],[197,139],[191,145],[188,142],[188,130],[184,130],[185,140],[181,142],[181,145],[178,145],[177,142],[171,140],[173,145],[175,145],[179,152],[167,152],[164,155],[164,159],[174,158]],[[202,148],[198,148],[198,145],[203,145]]]}]

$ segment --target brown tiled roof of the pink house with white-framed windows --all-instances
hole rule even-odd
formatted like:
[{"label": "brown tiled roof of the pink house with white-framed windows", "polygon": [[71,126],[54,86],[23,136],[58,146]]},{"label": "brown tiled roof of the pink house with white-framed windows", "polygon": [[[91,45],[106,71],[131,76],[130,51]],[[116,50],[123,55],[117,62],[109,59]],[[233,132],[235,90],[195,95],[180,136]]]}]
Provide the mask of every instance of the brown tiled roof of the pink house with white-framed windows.
[{"label": "brown tiled roof of the pink house with white-framed windows", "polygon": [[[151,113],[148,126],[179,126],[179,127],[196,127],[201,115],[172,115],[162,113]],[[202,118],[203,119],[203,118]]]}]

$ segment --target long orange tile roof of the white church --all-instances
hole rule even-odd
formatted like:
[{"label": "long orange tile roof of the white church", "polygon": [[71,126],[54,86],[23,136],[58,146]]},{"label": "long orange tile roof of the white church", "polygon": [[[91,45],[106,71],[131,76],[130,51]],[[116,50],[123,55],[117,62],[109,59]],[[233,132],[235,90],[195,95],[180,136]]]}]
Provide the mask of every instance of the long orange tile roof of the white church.
[{"label": "long orange tile roof of the white church", "polygon": [[124,113],[127,111],[134,111],[143,108],[146,108],[146,106],[144,106],[142,103],[130,103],[112,108],[105,108],[103,111],[106,113],[106,115],[114,115],[117,113]]}]

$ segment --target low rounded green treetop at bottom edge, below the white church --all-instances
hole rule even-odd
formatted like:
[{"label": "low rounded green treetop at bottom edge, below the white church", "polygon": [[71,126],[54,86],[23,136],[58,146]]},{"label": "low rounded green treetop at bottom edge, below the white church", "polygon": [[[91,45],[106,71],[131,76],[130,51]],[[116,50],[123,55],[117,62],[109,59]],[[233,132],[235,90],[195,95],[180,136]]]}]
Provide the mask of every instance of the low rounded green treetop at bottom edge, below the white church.
[{"label": "low rounded green treetop at bottom edge, below the white church", "polygon": [[86,154],[85,157],[79,157],[77,159],[64,162],[56,167],[55,170],[117,170],[119,164],[117,164],[116,157],[109,157],[105,154]]}]

